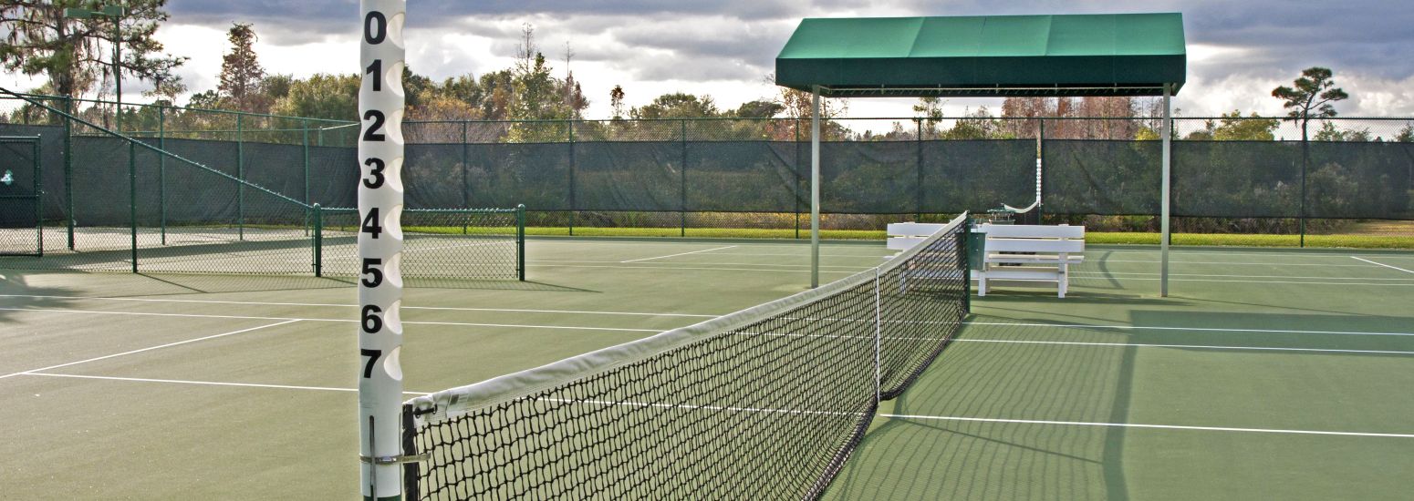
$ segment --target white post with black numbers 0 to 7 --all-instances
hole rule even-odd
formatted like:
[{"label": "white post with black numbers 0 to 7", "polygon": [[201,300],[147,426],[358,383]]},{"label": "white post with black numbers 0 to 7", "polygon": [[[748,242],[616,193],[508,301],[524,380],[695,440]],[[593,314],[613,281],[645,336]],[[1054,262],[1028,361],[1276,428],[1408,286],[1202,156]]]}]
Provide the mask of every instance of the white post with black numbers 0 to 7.
[{"label": "white post with black numbers 0 to 7", "polygon": [[365,500],[402,500],[403,21],[406,0],[361,1],[358,143],[359,452]]}]

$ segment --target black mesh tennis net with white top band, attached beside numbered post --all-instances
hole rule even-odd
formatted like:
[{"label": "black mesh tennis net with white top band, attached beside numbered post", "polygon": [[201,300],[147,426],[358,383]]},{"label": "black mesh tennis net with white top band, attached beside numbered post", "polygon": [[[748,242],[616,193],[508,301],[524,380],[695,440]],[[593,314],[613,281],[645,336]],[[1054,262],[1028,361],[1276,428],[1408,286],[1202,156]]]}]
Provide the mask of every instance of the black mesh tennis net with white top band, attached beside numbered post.
[{"label": "black mesh tennis net with white top band, attached beside numbered post", "polygon": [[407,497],[817,498],[960,329],[966,220],[817,289],[414,398]]}]

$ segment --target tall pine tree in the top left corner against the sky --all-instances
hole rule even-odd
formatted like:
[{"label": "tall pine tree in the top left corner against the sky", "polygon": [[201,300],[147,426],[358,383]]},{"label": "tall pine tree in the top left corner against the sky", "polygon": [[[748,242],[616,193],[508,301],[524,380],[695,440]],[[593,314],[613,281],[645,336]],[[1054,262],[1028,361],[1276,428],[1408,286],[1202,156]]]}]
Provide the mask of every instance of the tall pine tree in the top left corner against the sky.
[{"label": "tall pine tree in the top left corner against the sky", "polygon": [[[167,21],[167,0],[123,1],[122,71],[126,78],[157,83],[160,93],[178,89],[173,73],[187,58],[163,54],[153,38]],[[54,92],[78,96],[113,75],[113,21],[106,17],[65,18],[64,8],[92,8],[85,0],[11,0],[0,4],[0,66],[24,75],[45,75]],[[100,93],[106,93],[106,87]]]}]

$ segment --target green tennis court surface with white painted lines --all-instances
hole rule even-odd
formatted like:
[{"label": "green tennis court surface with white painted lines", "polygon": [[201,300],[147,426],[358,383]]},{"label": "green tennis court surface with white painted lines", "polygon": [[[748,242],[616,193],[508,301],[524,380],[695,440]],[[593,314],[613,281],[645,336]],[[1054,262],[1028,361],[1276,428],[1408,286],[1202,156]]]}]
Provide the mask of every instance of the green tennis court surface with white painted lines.
[{"label": "green tennis court surface with white painted lines", "polygon": [[[882,243],[823,247],[822,281]],[[532,239],[527,282],[409,289],[407,397],[802,291],[809,247]],[[1414,254],[1092,246],[1001,285],[885,402],[833,500],[1329,500],[1414,491]],[[0,270],[16,498],[354,498],[341,278]],[[749,381],[742,381],[749,385]]]}]

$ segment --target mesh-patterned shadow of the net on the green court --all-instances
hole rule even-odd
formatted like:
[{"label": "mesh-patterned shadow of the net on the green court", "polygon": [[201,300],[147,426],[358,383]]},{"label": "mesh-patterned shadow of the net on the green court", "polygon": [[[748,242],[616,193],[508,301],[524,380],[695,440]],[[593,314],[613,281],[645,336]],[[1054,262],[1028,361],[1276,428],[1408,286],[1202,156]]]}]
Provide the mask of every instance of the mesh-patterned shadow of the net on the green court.
[{"label": "mesh-patterned shadow of the net on the green court", "polygon": [[[988,326],[986,337],[1034,329]],[[1127,500],[1124,428],[1005,419],[1127,422],[1135,357],[1135,347],[954,343],[885,404],[894,416],[875,418],[824,498]]]}]

